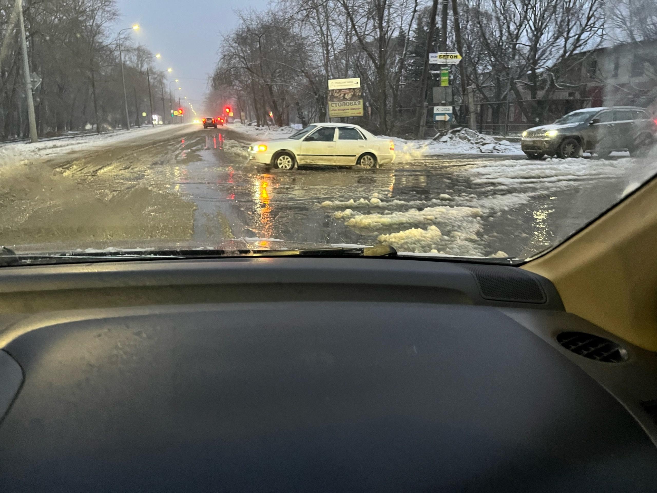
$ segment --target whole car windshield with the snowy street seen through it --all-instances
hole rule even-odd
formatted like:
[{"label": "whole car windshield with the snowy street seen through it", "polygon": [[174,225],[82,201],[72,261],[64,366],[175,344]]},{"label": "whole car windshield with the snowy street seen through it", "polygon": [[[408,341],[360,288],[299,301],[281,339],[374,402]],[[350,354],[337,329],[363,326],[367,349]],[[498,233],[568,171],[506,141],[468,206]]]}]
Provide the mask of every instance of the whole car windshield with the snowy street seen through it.
[{"label": "whole car windshield with the snowy street seen through it", "polygon": [[656,3],[612,3],[5,1],[0,247],[520,264],[657,172]]}]

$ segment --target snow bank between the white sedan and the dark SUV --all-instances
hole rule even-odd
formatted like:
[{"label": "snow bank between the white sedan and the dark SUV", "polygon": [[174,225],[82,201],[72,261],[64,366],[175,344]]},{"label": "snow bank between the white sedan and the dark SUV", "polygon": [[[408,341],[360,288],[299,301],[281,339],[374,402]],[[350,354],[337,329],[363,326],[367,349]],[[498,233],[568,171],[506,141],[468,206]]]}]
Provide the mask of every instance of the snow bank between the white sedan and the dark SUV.
[{"label": "snow bank between the white sedan and the dark SUV", "polygon": [[438,140],[405,140],[384,137],[395,143],[397,159],[408,161],[432,154],[522,154],[520,143],[496,141],[490,135],[457,128]]}]

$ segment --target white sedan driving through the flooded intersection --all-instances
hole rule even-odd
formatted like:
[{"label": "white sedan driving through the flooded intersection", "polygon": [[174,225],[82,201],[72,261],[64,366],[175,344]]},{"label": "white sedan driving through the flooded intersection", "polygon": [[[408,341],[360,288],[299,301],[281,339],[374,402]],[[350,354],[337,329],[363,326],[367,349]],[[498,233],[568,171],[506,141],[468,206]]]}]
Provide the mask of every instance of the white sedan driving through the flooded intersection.
[{"label": "white sedan driving through the flooded intersection", "polygon": [[261,141],[249,148],[250,160],[292,170],[301,165],[363,166],[378,168],[395,159],[395,144],[350,124],[318,123],[284,139]]}]

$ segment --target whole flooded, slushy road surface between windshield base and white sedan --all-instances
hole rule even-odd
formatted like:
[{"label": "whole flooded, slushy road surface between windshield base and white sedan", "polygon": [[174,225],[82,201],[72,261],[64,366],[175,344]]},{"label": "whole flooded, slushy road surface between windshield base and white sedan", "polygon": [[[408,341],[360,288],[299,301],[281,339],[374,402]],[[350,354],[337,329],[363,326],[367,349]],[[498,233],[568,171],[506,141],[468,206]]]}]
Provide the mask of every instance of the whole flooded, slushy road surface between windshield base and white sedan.
[{"label": "whole flooded, slushy road surface between windshield base and white sedan", "polygon": [[0,245],[283,239],[526,258],[612,205],[635,162],[426,156],[380,169],[267,170],[229,128],[171,129],[0,174]]}]

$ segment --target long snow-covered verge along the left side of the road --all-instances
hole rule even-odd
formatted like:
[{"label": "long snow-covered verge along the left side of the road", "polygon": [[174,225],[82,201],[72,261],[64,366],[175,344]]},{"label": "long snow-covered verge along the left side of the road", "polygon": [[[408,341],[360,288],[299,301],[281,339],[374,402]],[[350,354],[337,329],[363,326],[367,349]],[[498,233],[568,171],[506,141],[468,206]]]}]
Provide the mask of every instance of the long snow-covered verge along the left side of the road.
[{"label": "long snow-covered verge along the left side of the road", "polygon": [[170,129],[170,125],[161,125],[155,128],[144,126],[131,129],[130,131],[118,130],[101,133],[100,135],[86,134],[76,137],[39,139],[39,142],[34,144],[30,141],[1,144],[0,168],[11,164],[17,164],[28,159],[47,158],[56,156],[57,154],[93,150],[95,148],[104,147],[108,144],[146,137]]}]

